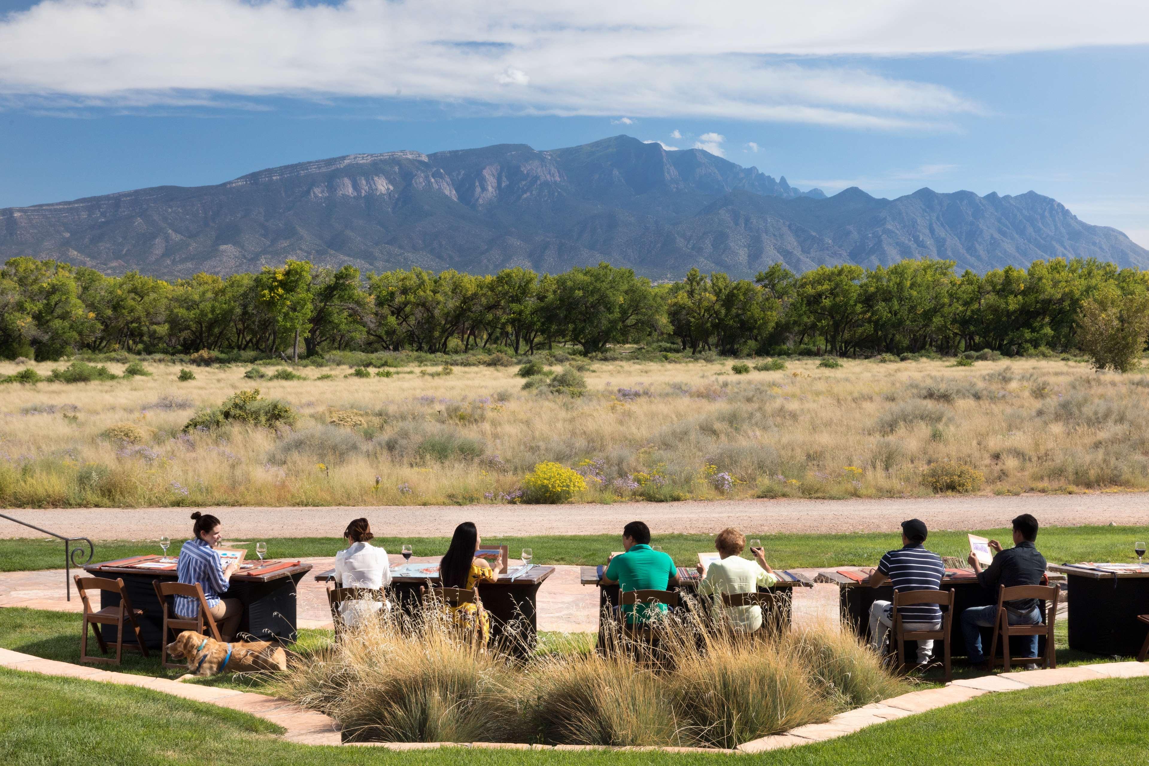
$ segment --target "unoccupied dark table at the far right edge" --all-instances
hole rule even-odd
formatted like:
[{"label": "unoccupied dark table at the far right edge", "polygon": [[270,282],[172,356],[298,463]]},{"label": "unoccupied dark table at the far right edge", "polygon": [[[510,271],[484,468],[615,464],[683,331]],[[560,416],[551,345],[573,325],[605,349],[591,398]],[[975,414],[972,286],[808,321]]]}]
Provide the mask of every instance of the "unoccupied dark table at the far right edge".
[{"label": "unoccupied dark table at the far right edge", "polygon": [[1055,564],[1069,582],[1070,649],[1135,657],[1146,640],[1149,565]]}]

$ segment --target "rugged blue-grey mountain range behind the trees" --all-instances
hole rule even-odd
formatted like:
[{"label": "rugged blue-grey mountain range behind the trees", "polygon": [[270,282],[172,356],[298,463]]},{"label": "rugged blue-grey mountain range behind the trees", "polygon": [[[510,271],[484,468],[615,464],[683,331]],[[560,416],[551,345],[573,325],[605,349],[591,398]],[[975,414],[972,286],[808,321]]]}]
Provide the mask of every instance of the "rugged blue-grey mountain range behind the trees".
[{"label": "rugged blue-grey mountain range behind the trees", "polygon": [[1149,268],[1149,250],[1035,192],[801,192],[701,149],[627,136],[539,152],[522,144],[353,154],[216,186],[157,186],[0,209],[0,260],[106,273],[233,273],[307,258],[363,271],[412,265],[558,272],[608,261],[654,279],[692,266],[753,277],[782,262],[872,268],[948,258],[958,271],[1095,257]]}]

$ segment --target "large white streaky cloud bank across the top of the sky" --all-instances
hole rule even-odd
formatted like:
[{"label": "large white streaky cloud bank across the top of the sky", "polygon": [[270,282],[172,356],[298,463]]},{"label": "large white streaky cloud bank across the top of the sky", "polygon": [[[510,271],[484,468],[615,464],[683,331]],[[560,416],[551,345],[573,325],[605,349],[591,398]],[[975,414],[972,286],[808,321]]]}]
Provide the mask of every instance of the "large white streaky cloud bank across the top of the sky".
[{"label": "large white streaky cloud bank across the top of the sky", "polygon": [[961,13],[932,0],[44,0],[0,16],[0,103],[403,98],[498,114],[946,129],[978,105],[838,56],[1147,42],[1149,3],[1127,0],[1094,0],[1088,14],[1074,0],[969,0]]}]

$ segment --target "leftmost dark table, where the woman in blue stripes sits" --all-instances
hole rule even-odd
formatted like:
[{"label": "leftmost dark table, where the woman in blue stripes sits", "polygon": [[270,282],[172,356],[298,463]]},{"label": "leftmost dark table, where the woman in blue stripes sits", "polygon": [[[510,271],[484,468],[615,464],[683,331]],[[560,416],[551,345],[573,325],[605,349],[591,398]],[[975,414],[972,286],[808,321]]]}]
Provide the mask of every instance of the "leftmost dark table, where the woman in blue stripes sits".
[{"label": "leftmost dark table, where the woman in blue stripes sits", "polygon": [[[152,581],[177,579],[175,559],[164,562],[162,558],[131,556],[84,567],[95,577],[123,579],[132,606],[144,610],[144,617],[137,619],[148,649],[159,649],[163,641],[163,609]],[[295,641],[295,586],[310,571],[310,564],[298,560],[245,562],[244,568],[231,575],[228,593],[223,595],[224,598],[238,598],[244,604],[239,632],[257,641]],[[118,604],[119,594],[100,591],[101,609]],[[105,641],[116,640],[116,626],[103,625],[101,629]]]}]

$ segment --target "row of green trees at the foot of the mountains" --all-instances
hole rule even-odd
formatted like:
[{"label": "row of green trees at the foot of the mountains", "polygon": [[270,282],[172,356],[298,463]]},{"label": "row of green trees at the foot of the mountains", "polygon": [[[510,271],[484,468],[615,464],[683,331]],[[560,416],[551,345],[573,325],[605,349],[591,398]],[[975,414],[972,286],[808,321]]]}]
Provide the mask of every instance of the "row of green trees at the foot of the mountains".
[{"label": "row of green trees at the foot of the mountains", "polygon": [[30,257],[0,270],[0,357],[9,359],[201,349],[294,358],[330,349],[522,355],[555,343],[594,354],[631,342],[743,356],[1015,355],[1081,343],[1140,353],[1147,316],[1149,272],[1092,258],[985,276],[928,258],[802,274],[774,264],[753,280],[692,269],[670,284],[607,263],[557,274],[411,268],[364,276],[349,265],[287,261],[175,281]]}]

